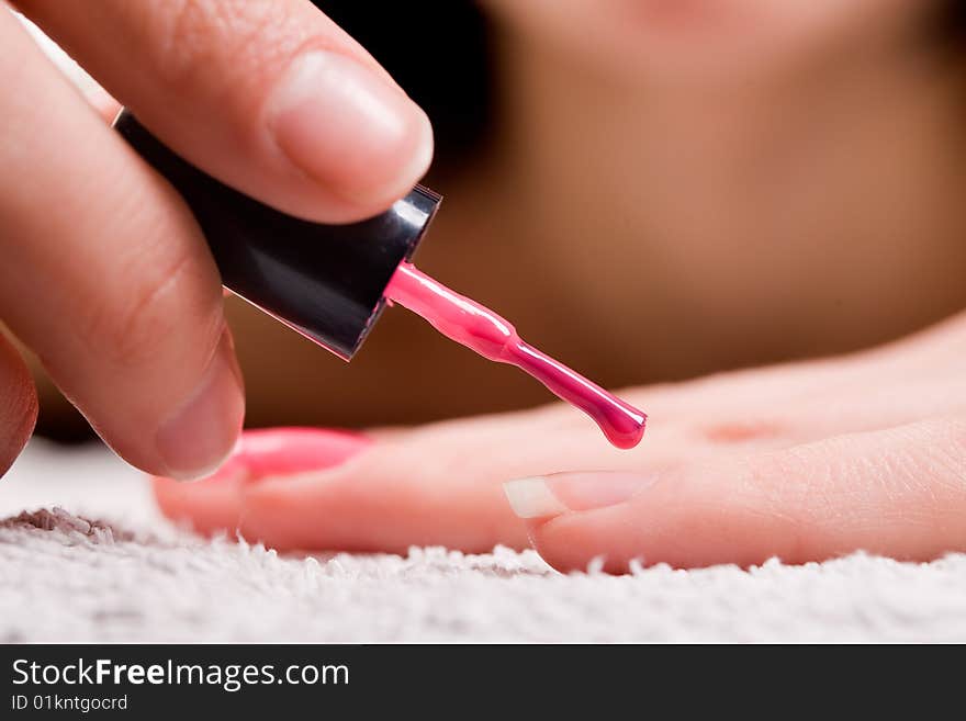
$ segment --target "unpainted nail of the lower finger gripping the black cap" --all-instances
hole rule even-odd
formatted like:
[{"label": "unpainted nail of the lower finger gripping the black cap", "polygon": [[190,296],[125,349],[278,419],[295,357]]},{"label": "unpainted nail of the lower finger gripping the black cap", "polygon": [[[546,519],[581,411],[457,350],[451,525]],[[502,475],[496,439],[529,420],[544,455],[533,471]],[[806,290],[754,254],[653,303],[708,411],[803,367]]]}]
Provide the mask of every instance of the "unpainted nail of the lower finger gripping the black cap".
[{"label": "unpainted nail of the lower finger gripping the black cap", "polygon": [[232,452],[244,418],[242,372],[226,329],[195,391],[158,429],[168,475],[180,481],[211,475]]}]

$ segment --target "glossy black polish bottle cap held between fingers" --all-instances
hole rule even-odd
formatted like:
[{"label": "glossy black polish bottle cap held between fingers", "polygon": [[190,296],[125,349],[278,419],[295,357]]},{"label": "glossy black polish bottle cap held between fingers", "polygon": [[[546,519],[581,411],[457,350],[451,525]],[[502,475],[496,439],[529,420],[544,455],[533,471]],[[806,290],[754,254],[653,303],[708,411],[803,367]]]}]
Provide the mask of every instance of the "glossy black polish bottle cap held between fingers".
[{"label": "glossy black polish bottle cap held between fingers", "polygon": [[381,215],[325,225],[274,210],[188,164],[130,112],[114,128],[184,198],[225,288],[350,360],[441,200],[417,185]]}]

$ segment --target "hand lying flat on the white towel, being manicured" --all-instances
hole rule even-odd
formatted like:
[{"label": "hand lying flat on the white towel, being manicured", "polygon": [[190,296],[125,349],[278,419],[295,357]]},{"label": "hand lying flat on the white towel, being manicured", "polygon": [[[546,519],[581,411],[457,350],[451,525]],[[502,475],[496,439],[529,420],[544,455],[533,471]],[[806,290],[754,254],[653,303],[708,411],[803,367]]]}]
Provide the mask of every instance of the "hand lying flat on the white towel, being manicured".
[{"label": "hand lying flat on the white towel, being manicured", "polygon": [[[214,477],[155,488],[173,518],[282,550],[529,539],[561,571],[603,557],[618,573],[926,560],[966,549],[964,358],[966,316],[853,357],[631,391],[650,413],[632,451],[554,405],[367,436],[251,431]],[[507,504],[514,477],[528,480]]]}]

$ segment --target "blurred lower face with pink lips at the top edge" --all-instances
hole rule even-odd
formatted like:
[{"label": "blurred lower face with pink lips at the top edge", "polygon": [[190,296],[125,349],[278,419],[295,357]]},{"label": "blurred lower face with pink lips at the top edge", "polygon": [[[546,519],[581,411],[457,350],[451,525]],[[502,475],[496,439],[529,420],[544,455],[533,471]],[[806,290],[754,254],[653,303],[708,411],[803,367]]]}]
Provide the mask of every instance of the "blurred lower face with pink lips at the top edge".
[{"label": "blurred lower face with pink lips at the top edge", "polygon": [[780,72],[911,36],[922,0],[485,0],[530,42],[651,79]]}]

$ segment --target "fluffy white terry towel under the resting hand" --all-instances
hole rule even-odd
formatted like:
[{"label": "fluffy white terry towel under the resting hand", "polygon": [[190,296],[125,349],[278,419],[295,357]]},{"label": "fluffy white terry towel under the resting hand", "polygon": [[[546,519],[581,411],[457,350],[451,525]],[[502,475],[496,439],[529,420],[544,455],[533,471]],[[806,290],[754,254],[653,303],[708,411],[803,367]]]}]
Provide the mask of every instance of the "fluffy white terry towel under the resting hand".
[{"label": "fluffy white terry towel under the resting hand", "polygon": [[966,641],[963,554],[624,577],[499,548],[280,556],[175,529],[106,451],[38,441],[0,518],[4,642]]}]

